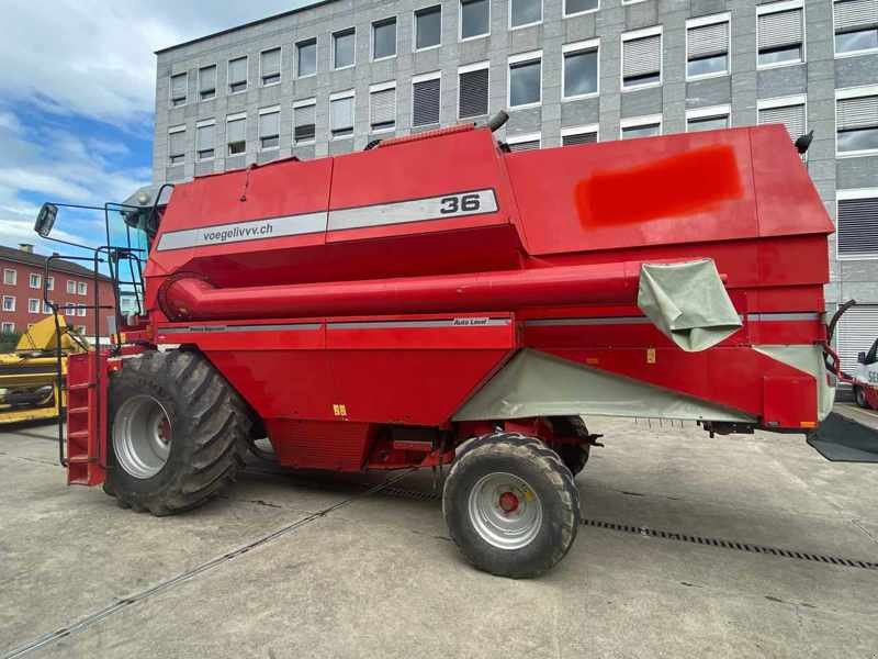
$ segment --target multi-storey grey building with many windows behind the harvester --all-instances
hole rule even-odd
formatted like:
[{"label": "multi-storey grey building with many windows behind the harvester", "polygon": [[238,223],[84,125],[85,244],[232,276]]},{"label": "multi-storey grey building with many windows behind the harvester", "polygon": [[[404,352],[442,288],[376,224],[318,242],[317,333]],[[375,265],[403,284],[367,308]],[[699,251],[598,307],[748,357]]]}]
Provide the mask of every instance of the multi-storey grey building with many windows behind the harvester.
[{"label": "multi-storey grey building with many windows behind the harvester", "polygon": [[878,334],[878,0],[325,0],[157,56],[156,181],[500,109],[511,148],[813,130],[846,364]]}]

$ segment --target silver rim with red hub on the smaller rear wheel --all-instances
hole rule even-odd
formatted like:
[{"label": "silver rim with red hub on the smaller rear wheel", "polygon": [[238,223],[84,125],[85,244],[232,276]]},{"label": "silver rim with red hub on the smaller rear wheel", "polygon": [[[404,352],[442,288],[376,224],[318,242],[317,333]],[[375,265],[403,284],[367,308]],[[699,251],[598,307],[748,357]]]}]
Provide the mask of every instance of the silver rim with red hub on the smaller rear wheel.
[{"label": "silver rim with red hub on the smaller rear wheel", "polygon": [[483,476],[470,490],[470,522],[488,545],[515,550],[542,528],[542,503],[527,481],[506,472]]}]

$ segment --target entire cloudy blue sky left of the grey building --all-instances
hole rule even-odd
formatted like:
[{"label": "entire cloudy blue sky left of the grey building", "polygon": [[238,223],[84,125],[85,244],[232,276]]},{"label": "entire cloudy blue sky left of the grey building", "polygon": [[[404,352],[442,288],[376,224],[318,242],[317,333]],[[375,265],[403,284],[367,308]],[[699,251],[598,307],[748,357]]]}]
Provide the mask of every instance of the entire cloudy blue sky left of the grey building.
[{"label": "entire cloudy blue sky left of the grey building", "polygon": [[[102,205],[151,182],[155,51],[308,3],[0,0],[0,244],[64,252],[33,231],[43,202]],[[102,232],[102,214],[61,209],[52,235]]]}]

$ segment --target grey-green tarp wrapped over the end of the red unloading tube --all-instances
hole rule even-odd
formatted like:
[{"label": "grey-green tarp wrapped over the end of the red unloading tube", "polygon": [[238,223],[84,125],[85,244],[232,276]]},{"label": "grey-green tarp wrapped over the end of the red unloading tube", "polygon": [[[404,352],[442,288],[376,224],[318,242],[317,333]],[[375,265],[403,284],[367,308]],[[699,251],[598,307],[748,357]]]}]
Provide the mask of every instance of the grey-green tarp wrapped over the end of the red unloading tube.
[{"label": "grey-green tarp wrapped over the end of the red unloading tube", "polygon": [[717,345],[741,327],[712,259],[643,264],[638,306],[687,353]]}]

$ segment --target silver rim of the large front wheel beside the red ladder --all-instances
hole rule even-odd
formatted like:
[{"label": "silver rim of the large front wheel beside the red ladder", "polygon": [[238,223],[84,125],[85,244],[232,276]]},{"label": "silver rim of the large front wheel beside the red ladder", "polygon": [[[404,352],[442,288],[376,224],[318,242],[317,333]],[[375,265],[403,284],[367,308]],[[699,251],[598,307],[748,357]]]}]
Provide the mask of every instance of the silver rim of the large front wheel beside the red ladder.
[{"label": "silver rim of the large front wheel beside the red ladder", "polygon": [[130,398],[113,420],[116,461],[134,478],[153,478],[161,471],[168,462],[171,439],[170,416],[151,395]]}]

